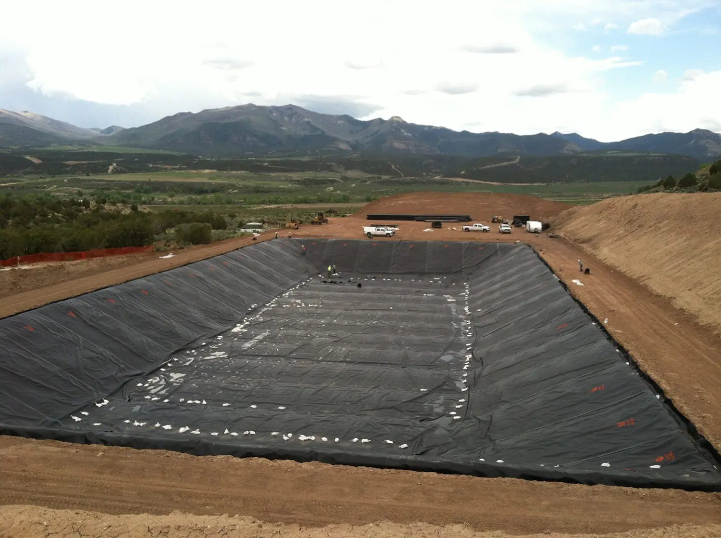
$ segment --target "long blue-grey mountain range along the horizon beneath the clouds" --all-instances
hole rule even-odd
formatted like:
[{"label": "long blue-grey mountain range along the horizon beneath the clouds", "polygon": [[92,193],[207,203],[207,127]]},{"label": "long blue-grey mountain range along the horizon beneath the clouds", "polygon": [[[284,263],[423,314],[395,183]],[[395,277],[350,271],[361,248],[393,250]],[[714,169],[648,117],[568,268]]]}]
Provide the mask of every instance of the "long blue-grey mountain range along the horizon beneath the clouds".
[{"label": "long blue-grey mountain range along the horizon beneath the clouds", "polygon": [[0,148],[69,143],[162,149],[203,156],[401,152],[486,157],[640,152],[685,155],[701,161],[721,156],[721,134],[703,129],[604,143],[577,133],[470,133],[408,123],[400,117],[357,120],[348,115],[312,112],[293,104],[278,107],[244,104],[195,114],[180,112],[141,127],[123,129],[113,125],[86,129],[32,112],[0,109]]}]

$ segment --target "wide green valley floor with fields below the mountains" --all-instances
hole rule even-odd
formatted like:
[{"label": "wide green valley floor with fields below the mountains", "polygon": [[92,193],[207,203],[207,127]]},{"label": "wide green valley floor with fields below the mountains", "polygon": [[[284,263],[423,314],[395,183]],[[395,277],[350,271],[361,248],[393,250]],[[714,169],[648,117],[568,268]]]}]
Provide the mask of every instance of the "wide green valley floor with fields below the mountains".
[{"label": "wide green valley floor with fields below the mountains", "polygon": [[[347,204],[358,207],[417,191],[528,194],[580,205],[637,192],[652,184],[647,178],[666,166],[686,166],[683,159],[676,162],[668,156],[659,162],[594,155],[524,157],[517,169],[494,168],[497,161],[505,162],[505,158],[208,159],[133,148],[57,146],[37,152],[0,152],[0,194],[103,199],[150,210],[217,208],[236,214],[242,210],[243,215],[270,209],[262,206],[298,206],[278,208],[285,211],[283,215],[290,214],[287,210],[307,214],[336,205],[339,209]],[[120,173],[109,174],[112,165],[120,166]],[[642,179],[634,179],[639,176]],[[608,181],[608,177],[616,179]]]}]

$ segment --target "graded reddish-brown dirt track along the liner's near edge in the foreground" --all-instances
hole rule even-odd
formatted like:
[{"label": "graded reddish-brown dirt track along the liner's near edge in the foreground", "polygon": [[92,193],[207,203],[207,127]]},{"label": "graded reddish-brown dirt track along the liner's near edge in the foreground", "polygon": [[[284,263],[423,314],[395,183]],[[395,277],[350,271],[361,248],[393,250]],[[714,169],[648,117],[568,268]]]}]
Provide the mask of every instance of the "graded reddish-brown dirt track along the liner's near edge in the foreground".
[{"label": "graded reddish-brown dirt track along the liner's near edge in the foreground", "polygon": [[708,493],[193,457],[9,437],[0,438],[0,477],[1,504],[106,514],[180,510],[304,526],[466,523],[513,534],[721,523],[721,500]]}]

